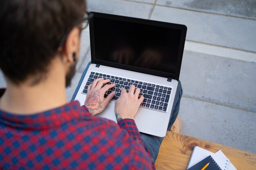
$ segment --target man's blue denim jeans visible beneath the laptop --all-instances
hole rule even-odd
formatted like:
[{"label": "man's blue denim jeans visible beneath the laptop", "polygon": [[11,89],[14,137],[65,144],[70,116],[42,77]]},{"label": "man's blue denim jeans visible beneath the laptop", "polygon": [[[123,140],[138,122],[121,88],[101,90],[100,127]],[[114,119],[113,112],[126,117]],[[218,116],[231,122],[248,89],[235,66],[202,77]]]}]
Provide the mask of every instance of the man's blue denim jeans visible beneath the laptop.
[{"label": "man's blue denim jeans visible beneath the laptop", "polygon": [[[181,86],[181,83],[179,80],[167,130],[171,130],[171,126],[173,126],[173,123],[178,116],[178,113],[180,110],[180,99],[181,99],[182,93],[183,93],[182,86]],[[159,152],[160,145],[163,141],[163,137],[148,135],[146,133],[141,133],[140,135],[142,137],[142,140],[143,140],[145,146],[148,148],[150,155],[155,163],[155,160],[157,159],[157,155]]]}]

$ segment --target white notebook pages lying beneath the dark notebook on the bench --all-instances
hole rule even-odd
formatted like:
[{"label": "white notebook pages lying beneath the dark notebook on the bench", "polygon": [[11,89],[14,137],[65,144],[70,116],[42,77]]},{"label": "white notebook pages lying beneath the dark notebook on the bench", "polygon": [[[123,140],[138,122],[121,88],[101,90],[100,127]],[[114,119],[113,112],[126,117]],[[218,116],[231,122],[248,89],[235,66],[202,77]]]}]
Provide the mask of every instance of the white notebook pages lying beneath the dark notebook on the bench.
[{"label": "white notebook pages lying beneath the dark notebook on the bench", "polygon": [[191,159],[189,161],[189,166],[187,169],[191,168],[192,166],[199,163],[208,156],[211,156],[214,159],[214,161],[216,161],[216,163],[220,167],[220,170],[236,170],[234,165],[229,161],[229,159],[224,155],[224,153],[221,150],[219,150],[216,153],[213,153],[198,146],[195,146],[193,150]]}]

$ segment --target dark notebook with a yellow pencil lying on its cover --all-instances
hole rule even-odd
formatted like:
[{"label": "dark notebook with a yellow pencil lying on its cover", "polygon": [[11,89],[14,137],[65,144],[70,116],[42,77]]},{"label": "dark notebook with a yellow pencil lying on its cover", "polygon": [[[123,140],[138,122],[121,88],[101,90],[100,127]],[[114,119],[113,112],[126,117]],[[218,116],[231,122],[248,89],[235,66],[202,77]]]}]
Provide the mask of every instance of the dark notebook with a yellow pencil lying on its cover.
[{"label": "dark notebook with a yellow pencil lying on its cover", "polygon": [[221,170],[220,166],[213,157],[208,156],[204,158],[202,161],[196,163],[194,166],[189,168],[188,170]]}]

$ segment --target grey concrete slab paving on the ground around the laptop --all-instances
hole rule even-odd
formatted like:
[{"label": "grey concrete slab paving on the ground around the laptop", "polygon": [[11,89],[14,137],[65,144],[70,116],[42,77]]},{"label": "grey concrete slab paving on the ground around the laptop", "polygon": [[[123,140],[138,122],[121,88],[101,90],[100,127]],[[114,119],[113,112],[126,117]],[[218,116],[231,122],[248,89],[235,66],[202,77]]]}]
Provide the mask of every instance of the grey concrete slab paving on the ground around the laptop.
[{"label": "grey concrete slab paving on the ground around the laptop", "polygon": [[[255,54],[256,21],[250,19],[255,18],[254,2],[88,0],[88,11],[186,24],[187,42]],[[89,37],[86,29],[82,33],[77,72],[66,91],[68,100],[90,61]],[[180,75],[184,90],[181,133],[256,153],[256,63],[239,59],[210,55],[207,50],[184,51]],[[0,86],[5,86],[1,73]]]}]

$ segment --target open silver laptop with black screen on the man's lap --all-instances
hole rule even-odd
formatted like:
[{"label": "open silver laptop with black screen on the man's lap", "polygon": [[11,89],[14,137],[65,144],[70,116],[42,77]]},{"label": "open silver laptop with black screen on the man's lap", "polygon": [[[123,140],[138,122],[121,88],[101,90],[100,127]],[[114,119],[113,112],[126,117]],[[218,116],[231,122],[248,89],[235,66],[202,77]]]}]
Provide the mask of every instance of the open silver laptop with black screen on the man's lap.
[{"label": "open silver laptop with black screen on the man's lap", "polygon": [[180,76],[186,26],[106,13],[93,14],[90,25],[91,59],[75,100],[84,104],[87,88],[103,77],[115,83],[116,96],[97,116],[117,122],[115,100],[121,87],[141,89],[135,123],[140,132],[164,137]]}]

